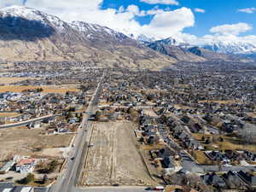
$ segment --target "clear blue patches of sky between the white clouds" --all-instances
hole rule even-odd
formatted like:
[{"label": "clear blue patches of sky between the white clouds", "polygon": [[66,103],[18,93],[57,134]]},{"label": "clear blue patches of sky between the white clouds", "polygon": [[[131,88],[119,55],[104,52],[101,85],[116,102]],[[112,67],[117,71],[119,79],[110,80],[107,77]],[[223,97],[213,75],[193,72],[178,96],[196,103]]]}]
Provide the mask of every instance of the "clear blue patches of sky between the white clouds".
[{"label": "clear blue patches of sky between the white clouds", "polygon": [[[244,35],[256,34],[256,13],[247,14],[238,12],[238,9],[256,7],[256,0],[179,0],[179,5],[162,5],[162,4],[148,4],[142,3],[139,0],[104,0],[102,9],[109,7],[119,9],[120,6],[125,8],[130,4],[137,5],[140,9],[148,10],[154,9],[157,5],[160,9],[169,8],[171,10],[181,7],[189,9],[205,9],[205,13],[195,13],[195,26],[184,29],[184,32],[203,36],[209,33],[212,26],[219,26],[224,24],[236,24],[239,22],[246,22],[255,26],[250,32],[243,33]],[[152,19],[151,16],[137,17],[141,24],[148,24]]]}]

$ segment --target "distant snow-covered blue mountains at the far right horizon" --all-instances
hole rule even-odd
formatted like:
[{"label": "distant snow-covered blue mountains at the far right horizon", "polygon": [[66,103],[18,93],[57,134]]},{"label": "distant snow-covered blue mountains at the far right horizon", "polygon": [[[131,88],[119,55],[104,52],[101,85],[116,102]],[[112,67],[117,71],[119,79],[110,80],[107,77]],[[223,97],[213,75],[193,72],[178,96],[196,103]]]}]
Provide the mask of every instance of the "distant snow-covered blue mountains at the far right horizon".
[{"label": "distant snow-covered blue mountains at the far right horizon", "polygon": [[256,53],[256,46],[242,42],[212,42],[201,45],[202,48],[222,54],[253,54]]}]

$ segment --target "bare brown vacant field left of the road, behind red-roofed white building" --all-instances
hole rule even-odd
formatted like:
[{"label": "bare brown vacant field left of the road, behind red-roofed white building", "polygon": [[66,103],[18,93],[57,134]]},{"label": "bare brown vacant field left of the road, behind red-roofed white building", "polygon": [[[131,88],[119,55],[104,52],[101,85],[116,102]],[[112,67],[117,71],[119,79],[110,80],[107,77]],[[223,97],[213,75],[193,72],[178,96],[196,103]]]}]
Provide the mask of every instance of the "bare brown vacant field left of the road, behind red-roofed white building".
[{"label": "bare brown vacant field left of the road, behind red-roofed white building", "polygon": [[[47,157],[45,148],[67,147],[73,135],[43,135],[44,129],[28,130],[26,127],[0,130],[0,160],[14,154]],[[55,157],[61,154],[55,153]]]}]

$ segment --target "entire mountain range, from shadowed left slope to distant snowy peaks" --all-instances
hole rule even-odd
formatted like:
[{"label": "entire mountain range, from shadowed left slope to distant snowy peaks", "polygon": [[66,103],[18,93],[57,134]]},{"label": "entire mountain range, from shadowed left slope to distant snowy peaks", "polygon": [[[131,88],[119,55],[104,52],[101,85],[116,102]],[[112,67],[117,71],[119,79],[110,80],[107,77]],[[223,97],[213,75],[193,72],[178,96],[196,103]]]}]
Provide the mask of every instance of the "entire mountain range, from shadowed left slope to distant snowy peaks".
[{"label": "entire mountain range, from shadowed left slope to distant snowy peaks", "polygon": [[95,67],[159,69],[178,61],[252,61],[256,46],[212,42],[190,45],[174,38],[155,41],[106,26],[66,22],[36,9],[0,9],[0,61],[86,61]]}]

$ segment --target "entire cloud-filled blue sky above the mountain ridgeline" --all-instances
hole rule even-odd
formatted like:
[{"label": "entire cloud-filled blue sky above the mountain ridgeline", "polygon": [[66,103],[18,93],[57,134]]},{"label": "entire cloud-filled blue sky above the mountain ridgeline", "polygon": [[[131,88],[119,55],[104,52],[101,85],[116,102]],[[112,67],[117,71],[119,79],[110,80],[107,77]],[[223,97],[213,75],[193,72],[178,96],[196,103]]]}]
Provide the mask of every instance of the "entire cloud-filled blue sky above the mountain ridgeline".
[{"label": "entire cloud-filled blue sky above the mountain ridgeline", "polygon": [[256,44],[256,0],[0,0],[126,35]]}]

